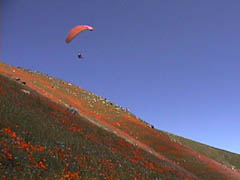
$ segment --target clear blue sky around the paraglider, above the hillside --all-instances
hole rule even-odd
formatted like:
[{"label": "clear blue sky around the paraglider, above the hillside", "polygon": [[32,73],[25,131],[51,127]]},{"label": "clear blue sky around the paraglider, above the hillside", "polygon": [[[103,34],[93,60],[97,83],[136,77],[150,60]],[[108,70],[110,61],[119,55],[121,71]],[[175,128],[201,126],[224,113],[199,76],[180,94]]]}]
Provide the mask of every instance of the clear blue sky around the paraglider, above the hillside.
[{"label": "clear blue sky around the paraglider, above the hillside", "polygon": [[[240,153],[240,1],[0,3],[1,61],[72,82],[157,129]],[[95,30],[66,44],[79,24]]]}]

